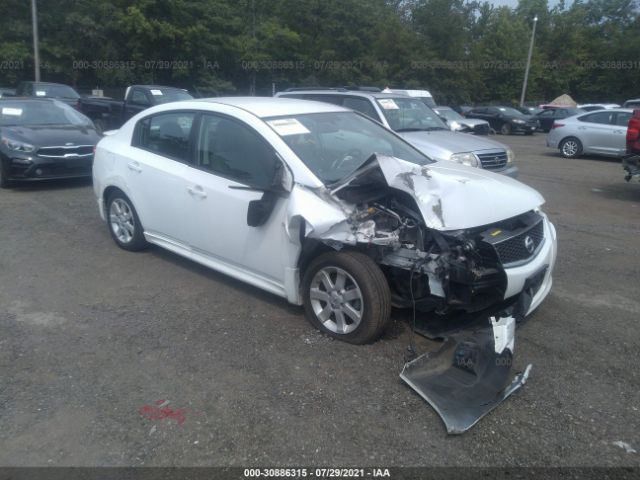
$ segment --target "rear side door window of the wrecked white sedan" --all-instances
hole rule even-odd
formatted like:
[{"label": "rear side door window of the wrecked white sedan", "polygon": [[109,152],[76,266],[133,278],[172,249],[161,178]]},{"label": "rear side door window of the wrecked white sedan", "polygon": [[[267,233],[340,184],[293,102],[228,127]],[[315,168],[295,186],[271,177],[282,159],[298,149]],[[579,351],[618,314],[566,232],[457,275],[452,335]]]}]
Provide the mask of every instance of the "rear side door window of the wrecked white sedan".
[{"label": "rear side door window of the wrecked white sedan", "polygon": [[191,163],[191,128],[195,113],[163,113],[138,123],[135,146],[158,155]]}]

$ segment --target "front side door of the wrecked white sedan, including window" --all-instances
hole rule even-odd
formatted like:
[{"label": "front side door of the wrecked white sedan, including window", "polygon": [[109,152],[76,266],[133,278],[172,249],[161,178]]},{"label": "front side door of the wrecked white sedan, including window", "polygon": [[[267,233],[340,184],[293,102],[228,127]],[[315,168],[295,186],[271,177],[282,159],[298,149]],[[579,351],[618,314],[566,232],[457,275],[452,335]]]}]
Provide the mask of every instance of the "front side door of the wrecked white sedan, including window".
[{"label": "front side door of the wrecked white sedan, including window", "polygon": [[[280,162],[275,151],[249,126],[213,113],[202,114],[196,145],[196,165],[188,186],[189,243],[194,253],[208,257],[220,270],[232,268],[258,277],[282,293],[291,261],[291,243],[284,229],[287,197],[269,197],[251,188],[272,182],[269,176],[275,162]],[[266,202],[270,214],[262,225],[249,226],[249,203],[264,195],[273,200]]]}]

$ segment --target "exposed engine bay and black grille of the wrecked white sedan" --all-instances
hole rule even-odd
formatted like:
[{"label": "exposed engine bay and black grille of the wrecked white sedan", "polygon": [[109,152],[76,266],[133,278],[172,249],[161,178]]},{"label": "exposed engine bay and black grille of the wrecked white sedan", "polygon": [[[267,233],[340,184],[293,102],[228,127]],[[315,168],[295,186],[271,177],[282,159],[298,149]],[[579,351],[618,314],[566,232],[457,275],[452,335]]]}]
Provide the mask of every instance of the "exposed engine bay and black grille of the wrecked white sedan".
[{"label": "exposed engine bay and black grille of the wrecked white sedan", "polygon": [[[404,181],[411,186],[411,176]],[[429,228],[415,198],[389,186],[379,168],[365,169],[334,188],[331,197],[353,208],[323,242],[336,250],[350,245],[372,257],[397,307],[415,304],[446,314],[502,306],[504,267],[526,262],[544,241],[543,218],[534,211],[470,229]],[[532,242],[528,250],[515,244],[525,234]]]}]

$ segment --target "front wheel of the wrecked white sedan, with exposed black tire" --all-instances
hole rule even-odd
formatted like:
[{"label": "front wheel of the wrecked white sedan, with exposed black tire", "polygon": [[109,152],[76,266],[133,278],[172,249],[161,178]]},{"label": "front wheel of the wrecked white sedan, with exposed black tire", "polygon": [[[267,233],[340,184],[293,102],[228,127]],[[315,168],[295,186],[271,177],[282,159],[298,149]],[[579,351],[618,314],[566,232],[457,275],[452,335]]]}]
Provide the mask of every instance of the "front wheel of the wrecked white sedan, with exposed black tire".
[{"label": "front wheel of the wrecked white sedan, with exposed black tire", "polygon": [[318,256],[305,271],[302,296],[309,322],[344,342],[372,342],[389,324],[389,284],[380,267],[362,253],[328,252]]}]

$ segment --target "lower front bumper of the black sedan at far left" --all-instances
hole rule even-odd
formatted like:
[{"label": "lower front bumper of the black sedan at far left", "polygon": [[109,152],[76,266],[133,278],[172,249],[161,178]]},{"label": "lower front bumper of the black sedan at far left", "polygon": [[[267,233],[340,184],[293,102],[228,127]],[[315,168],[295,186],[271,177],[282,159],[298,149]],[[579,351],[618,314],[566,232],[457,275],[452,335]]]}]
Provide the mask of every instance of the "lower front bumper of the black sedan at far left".
[{"label": "lower front bumper of the black sedan at far left", "polygon": [[66,159],[16,156],[4,161],[8,166],[10,180],[38,181],[54,178],[90,177],[93,156]]}]

